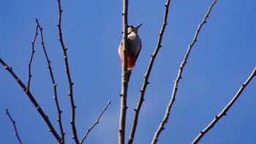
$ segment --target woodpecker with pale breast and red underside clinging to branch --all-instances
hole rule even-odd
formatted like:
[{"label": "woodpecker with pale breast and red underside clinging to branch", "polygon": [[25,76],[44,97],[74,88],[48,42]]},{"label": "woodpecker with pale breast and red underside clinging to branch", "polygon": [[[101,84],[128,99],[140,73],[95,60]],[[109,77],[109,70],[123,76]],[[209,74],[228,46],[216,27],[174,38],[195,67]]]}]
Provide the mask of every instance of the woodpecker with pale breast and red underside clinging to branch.
[{"label": "woodpecker with pale breast and red underside clinging to branch", "polygon": [[[128,47],[127,47],[127,72],[128,72],[128,81],[129,77],[132,74],[132,67],[135,66],[135,62],[140,54],[140,49],[141,49],[141,40],[140,37],[138,36],[138,29],[140,26],[128,26],[127,29],[127,42],[128,42]],[[119,48],[118,48],[118,53],[121,58],[121,66],[124,66],[124,50],[123,50],[123,41],[121,41]]]}]

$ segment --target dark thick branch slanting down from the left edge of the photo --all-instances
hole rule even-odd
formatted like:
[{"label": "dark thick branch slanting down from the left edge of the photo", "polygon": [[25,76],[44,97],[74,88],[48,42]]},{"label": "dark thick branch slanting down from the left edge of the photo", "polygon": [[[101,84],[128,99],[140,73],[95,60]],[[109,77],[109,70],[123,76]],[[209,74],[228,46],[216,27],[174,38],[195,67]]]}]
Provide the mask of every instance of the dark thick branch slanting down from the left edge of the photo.
[{"label": "dark thick branch slanting down from the left edge of the photo", "polygon": [[18,78],[18,76],[15,74],[15,72],[12,71],[12,67],[9,67],[1,58],[0,63],[3,65],[4,69],[7,69],[8,72],[12,75],[12,77],[17,81],[17,83],[20,85],[20,87],[25,91],[26,95],[29,97],[30,101],[33,103],[34,107],[36,107],[38,113],[42,116],[42,118],[45,120],[45,123],[49,127],[49,132],[52,132],[54,137],[56,137],[56,140],[61,140],[61,137],[59,137],[59,134],[54,129],[53,125],[50,123],[50,120],[47,115],[45,115],[42,108],[38,105],[36,99],[34,99],[34,96],[31,94],[31,92],[26,88],[24,83]]}]

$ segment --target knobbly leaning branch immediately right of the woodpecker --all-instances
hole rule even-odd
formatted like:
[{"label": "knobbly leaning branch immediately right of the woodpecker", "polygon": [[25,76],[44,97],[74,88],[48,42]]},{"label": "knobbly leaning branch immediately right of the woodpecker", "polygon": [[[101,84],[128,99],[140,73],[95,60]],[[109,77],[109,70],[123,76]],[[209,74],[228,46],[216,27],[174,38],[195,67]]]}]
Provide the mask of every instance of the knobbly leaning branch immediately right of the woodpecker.
[{"label": "knobbly leaning branch immediately right of the woodpecker", "polygon": [[135,131],[136,131],[136,127],[137,127],[137,124],[138,124],[138,117],[139,117],[139,113],[140,113],[140,107],[141,107],[141,105],[144,101],[144,94],[145,94],[145,91],[146,91],[146,87],[149,84],[148,77],[149,77],[151,69],[153,67],[154,59],[156,58],[159,49],[162,47],[161,42],[162,42],[162,36],[165,32],[165,26],[167,25],[167,15],[168,15],[168,10],[169,10],[169,5],[170,5],[170,0],[167,0],[167,2],[165,4],[165,14],[164,14],[164,19],[163,19],[163,23],[162,23],[162,28],[161,28],[161,31],[159,32],[159,37],[158,37],[158,40],[157,40],[157,46],[154,50],[153,55],[151,55],[151,60],[148,64],[148,69],[146,71],[146,74],[144,75],[143,86],[140,89],[140,98],[139,98],[139,101],[138,101],[138,105],[134,109],[135,110],[135,115],[134,115],[134,118],[133,118],[132,129],[131,129],[131,132],[130,132],[130,135],[129,135],[129,141],[128,141],[129,144],[132,144],[132,142],[134,140],[134,137],[135,137]]}]

